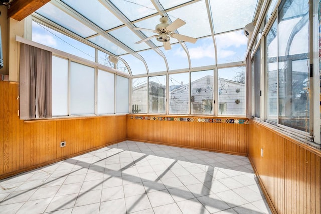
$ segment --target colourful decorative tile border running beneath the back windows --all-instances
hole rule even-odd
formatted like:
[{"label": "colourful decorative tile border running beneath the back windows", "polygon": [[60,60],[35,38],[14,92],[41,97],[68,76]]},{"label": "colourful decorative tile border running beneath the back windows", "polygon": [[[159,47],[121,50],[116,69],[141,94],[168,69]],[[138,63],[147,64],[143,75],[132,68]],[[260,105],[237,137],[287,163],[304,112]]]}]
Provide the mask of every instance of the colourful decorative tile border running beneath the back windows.
[{"label": "colourful decorative tile border running beneath the back windows", "polygon": [[187,118],[187,117],[160,117],[160,116],[130,116],[130,119],[152,120],[152,121],[185,121],[200,123],[227,123],[227,124],[249,124],[248,119],[226,119],[226,118]]}]

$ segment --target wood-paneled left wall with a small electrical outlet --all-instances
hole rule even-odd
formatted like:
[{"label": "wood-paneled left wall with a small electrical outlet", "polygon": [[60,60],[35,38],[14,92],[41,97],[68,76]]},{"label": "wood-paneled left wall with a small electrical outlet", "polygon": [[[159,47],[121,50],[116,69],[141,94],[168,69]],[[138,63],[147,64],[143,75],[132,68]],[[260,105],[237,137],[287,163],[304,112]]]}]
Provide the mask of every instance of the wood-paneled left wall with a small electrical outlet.
[{"label": "wood-paneled left wall with a small electrical outlet", "polygon": [[17,97],[0,81],[0,179],[127,139],[126,115],[25,122]]}]

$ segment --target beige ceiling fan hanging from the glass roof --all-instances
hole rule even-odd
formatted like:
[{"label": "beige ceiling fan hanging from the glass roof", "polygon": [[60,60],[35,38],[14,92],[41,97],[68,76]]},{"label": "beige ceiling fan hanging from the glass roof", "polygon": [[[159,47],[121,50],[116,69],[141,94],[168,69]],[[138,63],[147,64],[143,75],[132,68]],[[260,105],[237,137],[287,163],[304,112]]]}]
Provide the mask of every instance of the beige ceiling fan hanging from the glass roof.
[{"label": "beige ceiling fan hanging from the glass roof", "polygon": [[184,22],[183,20],[176,19],[171,24],[167,23],[168,22],[168,17],[161,17],[161,19],[159,19],[159,20],[161,21],[161,23],[156,25],[156,28],[155,28],[156,30],[147,29],[147,28],[133,28],[134,30],[152,31],[154,33],[158,33],[158,35],[153,35],[153,36],[147,37],[146,39],[143,39],[143,40],[140,40],[140,41],[136,42],[136,44],[145,42],[147,40],[150,40],[150,39],[156,37],[156,39],[159,42],[163,42],[165,50],[170,50],[171,49],[171,44],[170,44],[170,38],[171,37],[175,38],[177,40],[185,41],[185,42],[191,42],[191,43],[195,43],[196,42],[197,39],[195,39],[193,37],[189,37],[189,36],[173,33],[173,31],[175,31],[179,27],[181,27],[181,26],[186,24],[186,22]]}]

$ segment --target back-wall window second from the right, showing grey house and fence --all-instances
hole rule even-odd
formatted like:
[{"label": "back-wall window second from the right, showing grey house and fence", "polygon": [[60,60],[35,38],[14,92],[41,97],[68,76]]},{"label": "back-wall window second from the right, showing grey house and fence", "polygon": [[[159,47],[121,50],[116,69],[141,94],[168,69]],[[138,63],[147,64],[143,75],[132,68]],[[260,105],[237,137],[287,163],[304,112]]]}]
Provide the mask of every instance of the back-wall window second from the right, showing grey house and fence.
[{"label": "back-wall window second from the right, showing grey house and fence", "polygon": [[191,114],[213,114],[213,70],[191,72]]}]

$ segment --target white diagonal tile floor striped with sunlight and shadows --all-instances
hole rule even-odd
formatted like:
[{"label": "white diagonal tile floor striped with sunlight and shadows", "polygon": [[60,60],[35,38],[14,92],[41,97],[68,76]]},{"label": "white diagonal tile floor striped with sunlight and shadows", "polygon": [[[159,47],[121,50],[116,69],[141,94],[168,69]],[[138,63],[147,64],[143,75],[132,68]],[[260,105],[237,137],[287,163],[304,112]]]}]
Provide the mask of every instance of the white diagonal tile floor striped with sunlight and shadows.
[{"label": "white diagonal tile floor striped with sunlight and shadows", "polygon": [[270,213],[247,157],[124,141],[0,180],[0,213]]}]

